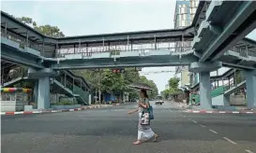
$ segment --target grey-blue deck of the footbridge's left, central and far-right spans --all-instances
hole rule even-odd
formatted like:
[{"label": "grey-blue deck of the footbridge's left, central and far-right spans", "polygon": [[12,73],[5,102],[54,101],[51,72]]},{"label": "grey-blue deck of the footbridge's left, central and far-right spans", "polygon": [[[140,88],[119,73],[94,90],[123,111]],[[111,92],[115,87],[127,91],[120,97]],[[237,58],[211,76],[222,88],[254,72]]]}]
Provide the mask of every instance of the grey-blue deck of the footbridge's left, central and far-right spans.
[{"label": "grey-blue deck of the footbridge's left, central and far-right spans", "polygon": [[[149,66],[176,66],[189,65],[197,62],[198,57],[193,50],[185,47],[181,52],[173,52],[171,49],[135,49],[135,50],[115,50],[112,52],[95,52],[84,56],[83,53],[69,53],[65,58],[45,58],[38,56],[32,51],[34,49],[21,49],[11,40],[1,43],[1,58],[13,63],[22,63],[29,66],[36,65],[38,68],[52,66],[53,69],[79,69],[79,68],[100,68],[100,67],[149,67]],[[237,51],[239,50],[239,51]],[[223,62],[228,67],[255,69],[256,60],[254,53],[241,56],[245,53],[241,49],[227,51],[218,61]],[[249,56],[252,55],[252,56]]]}]

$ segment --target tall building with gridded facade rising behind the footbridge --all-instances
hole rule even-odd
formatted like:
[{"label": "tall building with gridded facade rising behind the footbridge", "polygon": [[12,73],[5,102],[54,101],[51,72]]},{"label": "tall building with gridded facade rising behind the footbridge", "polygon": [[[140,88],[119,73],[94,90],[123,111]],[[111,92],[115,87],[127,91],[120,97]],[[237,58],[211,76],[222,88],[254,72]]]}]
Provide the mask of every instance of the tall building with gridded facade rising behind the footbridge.
[{"label": "tall building with gridded facade rising behind the footbridge", "polygon": [[[192,23],[198,4],[198,0],[176,1],[174,12],[175,29],[188,27]],[[186,51],[189,49],[191,49],[191,42],[180,41],[175,43],[175,51]],[[175,68],[175,75],[180,78],[179,87],[190,84],[188,66],[177,66]],[[194,77],[198,77],[198,74],[195,74]]]}]

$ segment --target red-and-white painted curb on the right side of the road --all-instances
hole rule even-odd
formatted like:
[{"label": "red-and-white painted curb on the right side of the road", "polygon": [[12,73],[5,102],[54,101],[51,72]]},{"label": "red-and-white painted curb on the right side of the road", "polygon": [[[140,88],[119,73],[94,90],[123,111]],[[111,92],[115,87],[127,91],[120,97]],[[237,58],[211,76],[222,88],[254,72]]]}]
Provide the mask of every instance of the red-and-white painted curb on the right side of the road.
[{"label": "red-and-white painted curb on the right side of the road", "polygon": [[185,110],[186,113],[197,113],[197,114],[251,114],[256,115],[255,111],[218,111],[218,110]]}]

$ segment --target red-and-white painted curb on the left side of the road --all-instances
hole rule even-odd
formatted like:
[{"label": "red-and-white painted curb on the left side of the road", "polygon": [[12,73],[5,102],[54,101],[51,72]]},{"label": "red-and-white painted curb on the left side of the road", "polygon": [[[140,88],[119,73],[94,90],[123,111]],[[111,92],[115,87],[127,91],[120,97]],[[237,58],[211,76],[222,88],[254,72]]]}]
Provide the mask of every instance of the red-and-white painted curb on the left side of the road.
[{"label": "red-and-white painted curb on the left side of the road", "polygon": [[83,108],[74,108],[74,109],[61,109],[61,110],[36,110],[36,111],[22,111],[22,112],[1,112],[1,116],[8,115],[19,115],[19,114],[39,114],[39,113],[57,113],[57,112],[74,112],[81,111],[85,109],[92,108],[106,108],[113,105],[97,105],[97,106],[87,106]]}]

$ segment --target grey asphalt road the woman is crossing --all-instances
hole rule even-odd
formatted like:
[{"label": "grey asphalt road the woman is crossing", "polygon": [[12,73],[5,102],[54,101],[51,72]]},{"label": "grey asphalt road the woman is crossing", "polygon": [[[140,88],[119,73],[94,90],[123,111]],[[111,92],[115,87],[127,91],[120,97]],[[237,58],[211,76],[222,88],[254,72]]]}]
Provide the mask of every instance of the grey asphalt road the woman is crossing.
[{"label": "grey asphalt road the woman is crossing", "polygon": [[127,115],[134,107],[2,116],[2,152],[256,153],[255,115],[188,114],[167,102],[153,105],[158,142],[134,146],[138,115]]}]

